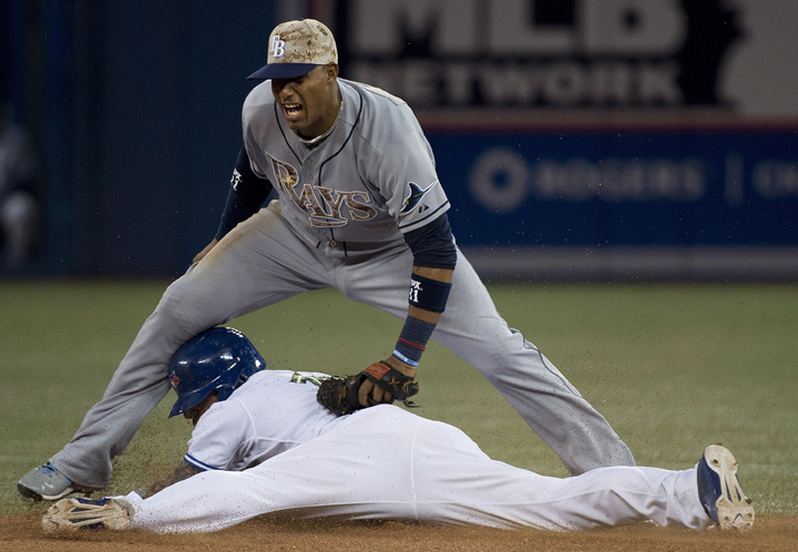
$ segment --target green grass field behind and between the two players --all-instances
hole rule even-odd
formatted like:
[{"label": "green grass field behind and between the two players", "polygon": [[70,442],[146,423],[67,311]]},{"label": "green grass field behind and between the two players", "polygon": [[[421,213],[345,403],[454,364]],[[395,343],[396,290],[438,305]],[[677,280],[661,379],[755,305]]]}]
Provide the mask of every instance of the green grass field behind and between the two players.
[{"label": "green grass field behind and between the two players", "polygon": [[[100,397],[166,282],[0,282],[0,513],[42,510],[16,482],[57,452]],[[521,329],[610,420],[640,464],[684,469],[723,442],[758,514],[798,515],[798,286],[490,286]],[[231,323],[276,369],[352,374],[385,357],[401,323],[316,292]],[[416,412],[485,452],[564,476],[556,457],[477,371],[431,345]],[[111,492],[171,471],[191,427],[170,396],[116,461]]]}]

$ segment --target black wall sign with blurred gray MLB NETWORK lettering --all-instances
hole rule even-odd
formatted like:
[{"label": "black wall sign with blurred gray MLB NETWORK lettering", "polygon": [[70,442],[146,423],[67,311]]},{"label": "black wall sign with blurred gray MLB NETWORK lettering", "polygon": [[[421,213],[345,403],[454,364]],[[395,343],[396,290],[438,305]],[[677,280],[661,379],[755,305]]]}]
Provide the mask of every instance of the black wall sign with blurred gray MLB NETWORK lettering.
[{"label": "black wall sign with blurred gray MLB NETWORK lettering", "polygon": [[350,0],[344,68],[415,108],[723,106],[719,0]]}]

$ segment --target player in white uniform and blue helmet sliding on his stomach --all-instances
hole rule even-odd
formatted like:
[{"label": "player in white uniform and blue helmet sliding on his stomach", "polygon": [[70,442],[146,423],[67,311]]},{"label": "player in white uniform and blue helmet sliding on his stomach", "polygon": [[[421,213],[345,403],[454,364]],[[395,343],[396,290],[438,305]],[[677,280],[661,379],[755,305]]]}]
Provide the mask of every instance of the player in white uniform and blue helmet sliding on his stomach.
[{"label": "player in white uniform and blue helmet sliding on his stomach", "polygon": [[720,446],[683,471],[611,467],[548,478],[491,460],[459,429],[395,406],[336,417],[316,400],[328,376],[265,365],[232,328],[190,340],[170,367],[172,415],[195,425],[178,468],[126,497],[64,499],[42,527],[216,531],[260,514],[554,531],[754,523],[737,463]]}]

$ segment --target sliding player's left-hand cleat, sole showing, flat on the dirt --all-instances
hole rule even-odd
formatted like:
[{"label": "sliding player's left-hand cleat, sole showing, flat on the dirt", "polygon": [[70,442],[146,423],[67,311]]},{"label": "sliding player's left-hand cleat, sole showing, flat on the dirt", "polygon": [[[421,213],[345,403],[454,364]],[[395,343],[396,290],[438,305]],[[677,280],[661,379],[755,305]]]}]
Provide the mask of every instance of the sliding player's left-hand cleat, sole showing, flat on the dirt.
[{"label": "sliding player's left-hand cleat, sole showing, flat on the dirt", "polygon": [[114,529],[130,527],[131,512],[115,499],[63,499],[50,507],[42,518],[47,533],[69,529]]}]

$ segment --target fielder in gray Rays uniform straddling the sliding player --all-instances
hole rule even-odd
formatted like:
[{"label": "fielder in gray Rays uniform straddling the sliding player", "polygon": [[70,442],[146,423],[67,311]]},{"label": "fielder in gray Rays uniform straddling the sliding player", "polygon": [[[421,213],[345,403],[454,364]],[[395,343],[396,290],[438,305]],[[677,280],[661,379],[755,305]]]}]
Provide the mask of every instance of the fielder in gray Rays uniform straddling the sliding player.
[{"label": "fielder in gray Rays uniform straddling the sliding player", "polygon": [[[72,441],[19,491],[54,500],[105,487],[114,457],[168,391],[166,367],[182,344],[326,287],[405,319],[388,358],[364,370],[361,405],[390,402],[433,338],[484,375],[570,473],[633,466],[607,421],[508,327],[457,249],[408,105],[339,79],[335,40],[318,21],[282,23],[268,44],[267,65],[250,76],[265,82],[244,103],[244,147],[216,237],[166,289]],[[260,208],[273,188],[279,201]]]}]

